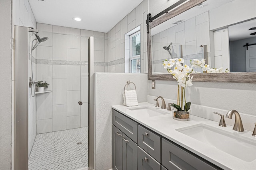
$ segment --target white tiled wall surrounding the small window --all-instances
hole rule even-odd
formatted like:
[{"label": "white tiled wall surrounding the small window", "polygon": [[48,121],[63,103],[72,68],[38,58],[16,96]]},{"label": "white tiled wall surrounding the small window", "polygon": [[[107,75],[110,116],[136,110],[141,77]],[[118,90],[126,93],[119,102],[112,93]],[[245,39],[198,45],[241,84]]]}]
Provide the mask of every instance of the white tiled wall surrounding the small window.
[{"label": "white tiled wall surrounding the small window", "polygon": [[147,14],[148,1],[144,0],[108,32],[108,72],[125,72],[125,55],[129,55],[129,41],[125,40],[125,34],[139,25],[141,37],[141,72],[147,72]]}]

